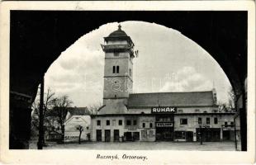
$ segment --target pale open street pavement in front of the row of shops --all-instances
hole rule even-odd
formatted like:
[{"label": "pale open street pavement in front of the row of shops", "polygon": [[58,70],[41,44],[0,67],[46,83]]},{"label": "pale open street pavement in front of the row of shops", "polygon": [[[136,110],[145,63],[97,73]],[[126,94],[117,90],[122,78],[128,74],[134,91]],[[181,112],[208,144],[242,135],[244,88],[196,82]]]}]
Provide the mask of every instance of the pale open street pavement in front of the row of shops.
[{"label": "pale open street pavement in front of the row of shops", "polygon": [[[36,149],[36,142],[30,144]],[[197,150],[235,151],[235,142],[82,142],[69,144],[48,144],[44,149],[102,149],[102,150]]]}]

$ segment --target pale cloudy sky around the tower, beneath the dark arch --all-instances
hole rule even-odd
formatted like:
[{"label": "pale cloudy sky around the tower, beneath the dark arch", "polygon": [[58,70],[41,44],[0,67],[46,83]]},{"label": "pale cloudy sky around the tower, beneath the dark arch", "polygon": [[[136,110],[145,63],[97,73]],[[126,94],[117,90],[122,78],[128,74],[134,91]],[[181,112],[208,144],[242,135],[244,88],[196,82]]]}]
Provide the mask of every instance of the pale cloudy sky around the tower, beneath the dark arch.
[{"label": "pale cloudy sky around the tower, beneath the dark arch", "polygon": [[[108,23],[81,36],[45,73],[45,89],[56,96],[68,95],[73,106],[102,102],[103,37],[117,30]],[[139,50],[133,60],[133,92],[192,92],[216,88],[217,100],[228,101],[231,88],[220,65],[210,54],[179,31],[144,21],[121,22]]]}]

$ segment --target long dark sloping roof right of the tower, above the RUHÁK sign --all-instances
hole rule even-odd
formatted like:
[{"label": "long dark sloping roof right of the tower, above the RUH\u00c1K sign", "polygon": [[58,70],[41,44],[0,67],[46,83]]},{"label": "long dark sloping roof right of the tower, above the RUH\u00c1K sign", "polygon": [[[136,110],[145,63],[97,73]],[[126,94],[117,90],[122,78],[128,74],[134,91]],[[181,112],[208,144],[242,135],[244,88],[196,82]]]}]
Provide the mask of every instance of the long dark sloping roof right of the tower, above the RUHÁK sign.
[{"label": "long dark sloping roof right of the tower, above the RUH\u00c1K sign", "polygon": [[128,107],[213,106],[213,94],[206,92],[156,92],[130,94]]}]

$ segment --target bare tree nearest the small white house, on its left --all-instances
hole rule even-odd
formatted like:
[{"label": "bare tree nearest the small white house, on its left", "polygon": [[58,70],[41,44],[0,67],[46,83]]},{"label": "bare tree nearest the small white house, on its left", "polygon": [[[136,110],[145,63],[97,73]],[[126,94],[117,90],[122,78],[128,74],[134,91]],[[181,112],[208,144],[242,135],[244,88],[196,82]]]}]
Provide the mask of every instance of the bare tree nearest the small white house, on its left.
[{"label": "bare tree nearest the small white house, on its left", "polygon": [[64,141],[64,121],[68,113],[69,107],[73,104],[73,101],[69,100],[67,95],[55,99],[53,111],[56,111],[61,126],[62,141]]}]

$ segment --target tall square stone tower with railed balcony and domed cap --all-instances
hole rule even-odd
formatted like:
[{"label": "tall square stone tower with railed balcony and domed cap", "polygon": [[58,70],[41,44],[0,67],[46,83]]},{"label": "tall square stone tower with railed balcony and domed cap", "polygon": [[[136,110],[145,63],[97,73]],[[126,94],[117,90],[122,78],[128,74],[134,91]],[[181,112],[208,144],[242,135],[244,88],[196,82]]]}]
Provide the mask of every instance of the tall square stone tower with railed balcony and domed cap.
[{"label": "tall square stone tower with railed balcony and domed cap", "polygon": [[104,37],[102,50],[105,52],[103,104],[121,103],[125,105],[132,92],[133,62],[135,58],[134,43],[121,25]]}]

